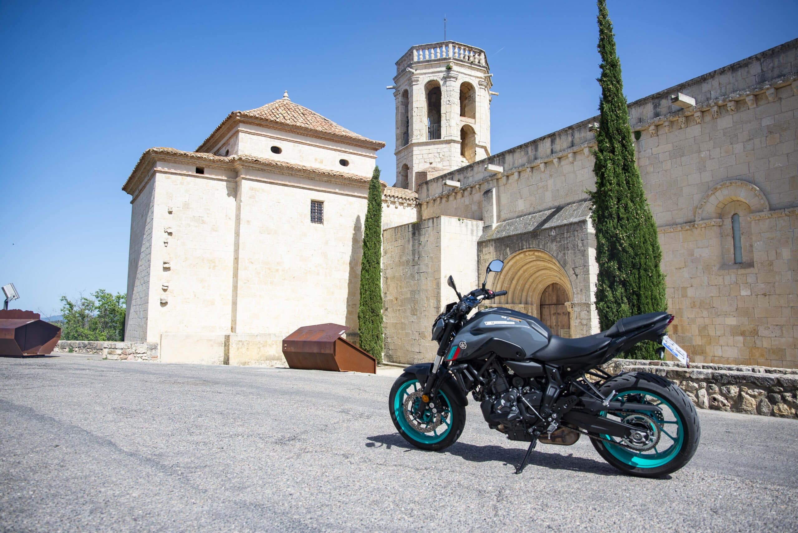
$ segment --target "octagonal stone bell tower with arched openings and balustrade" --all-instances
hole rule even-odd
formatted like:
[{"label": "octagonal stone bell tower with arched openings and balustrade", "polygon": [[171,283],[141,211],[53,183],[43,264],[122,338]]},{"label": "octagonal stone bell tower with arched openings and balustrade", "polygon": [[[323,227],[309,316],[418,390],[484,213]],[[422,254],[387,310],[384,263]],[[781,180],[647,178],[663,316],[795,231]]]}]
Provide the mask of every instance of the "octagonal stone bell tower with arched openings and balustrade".
[{"label": "octagonal stone bell tower with arched openings and balustrade", "polygon": [[397,187],[417,190],[490,155],[492,75],[484,50],[455,41],[417,45],[396,65]]}]

